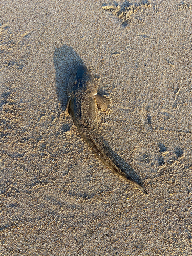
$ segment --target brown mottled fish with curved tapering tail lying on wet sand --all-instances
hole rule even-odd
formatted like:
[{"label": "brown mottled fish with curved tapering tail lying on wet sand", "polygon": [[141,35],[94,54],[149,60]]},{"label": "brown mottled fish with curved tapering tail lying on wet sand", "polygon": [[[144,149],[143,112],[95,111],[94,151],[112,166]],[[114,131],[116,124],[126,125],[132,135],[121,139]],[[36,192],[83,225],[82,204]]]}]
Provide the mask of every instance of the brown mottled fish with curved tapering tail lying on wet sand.
[{"label": "brown mottled fish with curved tapering tail lying on wet sand", "polygon": [[116,175],[142,193],[149,194],[118,164],[108,144],[103,140],[98,129],[98,106],[102,111],[106,110],[109,100],[97,94],[94,78],[83,63],[76,63],[71,69],[67,94],[69,99],[65,114],[72,115],[78,132],[92,152]]}]

